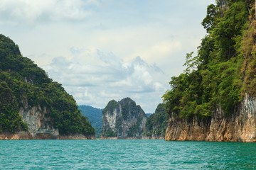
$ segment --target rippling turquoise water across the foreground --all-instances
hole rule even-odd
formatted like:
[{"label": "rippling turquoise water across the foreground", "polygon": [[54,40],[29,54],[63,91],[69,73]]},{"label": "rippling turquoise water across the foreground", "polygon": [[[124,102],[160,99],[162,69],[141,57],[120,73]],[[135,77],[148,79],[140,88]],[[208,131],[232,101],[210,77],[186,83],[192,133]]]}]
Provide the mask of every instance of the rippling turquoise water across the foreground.
[{"label": "rippling turquoise water across the foreground", "polygon": [[256,169],[256,143],[0,140],[0,169]]}]

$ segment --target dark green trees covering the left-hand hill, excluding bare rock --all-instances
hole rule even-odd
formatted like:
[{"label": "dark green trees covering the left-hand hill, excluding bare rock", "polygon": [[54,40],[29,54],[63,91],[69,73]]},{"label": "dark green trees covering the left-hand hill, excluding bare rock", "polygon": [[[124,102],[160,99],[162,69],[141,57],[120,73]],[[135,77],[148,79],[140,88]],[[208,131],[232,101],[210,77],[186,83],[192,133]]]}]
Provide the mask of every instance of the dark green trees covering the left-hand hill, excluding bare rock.
[{"label": "dark green trees covering the left-hand hill, excluding bare rock", "polygon": [[0,81],[0,132],[28,130],[18,109],[41,106],[47,108],[47,116],[54,120],[60,134],[95,134],[73,96],[49,79],[33,61],[23,57],[18,45],[4,35],[0,35]]}]

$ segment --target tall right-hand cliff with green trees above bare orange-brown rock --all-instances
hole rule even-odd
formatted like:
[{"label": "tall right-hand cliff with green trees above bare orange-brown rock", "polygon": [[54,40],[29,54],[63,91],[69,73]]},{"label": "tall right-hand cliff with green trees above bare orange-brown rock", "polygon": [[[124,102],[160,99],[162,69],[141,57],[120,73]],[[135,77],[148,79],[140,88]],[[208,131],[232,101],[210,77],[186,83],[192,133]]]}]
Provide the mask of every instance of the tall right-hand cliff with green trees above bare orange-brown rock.
[{"label": "tall right-hand cliff with green trees above bare orange-brown rock", "polygon": [[164,94],[166,140],[256,142],[255,1],[216,1],[198,54]]}]

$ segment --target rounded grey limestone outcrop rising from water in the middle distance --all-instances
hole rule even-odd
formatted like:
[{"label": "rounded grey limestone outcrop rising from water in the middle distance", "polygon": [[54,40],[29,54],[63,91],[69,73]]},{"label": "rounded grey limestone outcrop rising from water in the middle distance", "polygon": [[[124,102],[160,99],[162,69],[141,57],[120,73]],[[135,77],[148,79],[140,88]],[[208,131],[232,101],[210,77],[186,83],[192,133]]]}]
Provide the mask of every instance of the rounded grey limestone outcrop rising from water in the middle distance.
[{"label": "rounded grey limestone outcrop rising from water in the middle distance", "polygon": [[110,101],[102,112],[102,138],[142,138],[146,114],[131,98]]}]

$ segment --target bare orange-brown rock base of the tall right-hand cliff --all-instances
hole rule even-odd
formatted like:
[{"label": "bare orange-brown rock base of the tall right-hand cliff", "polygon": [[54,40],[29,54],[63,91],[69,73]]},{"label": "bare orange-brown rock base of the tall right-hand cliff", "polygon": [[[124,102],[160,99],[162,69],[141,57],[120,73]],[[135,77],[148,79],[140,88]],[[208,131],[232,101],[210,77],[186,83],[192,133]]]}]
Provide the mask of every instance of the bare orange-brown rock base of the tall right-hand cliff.
[{"label": "bare orange-brown rock base of the tall right-hand cliff", "polygon": [[191,122],[171,115],[166,140],[196,140],[216,142],[256,142],[256,98],[245,98],[233,115],[225,116],[216,108],[210,120]]}]

